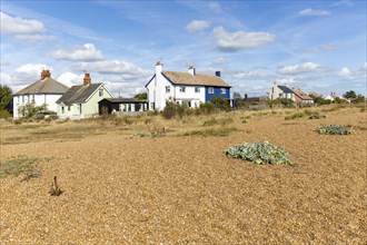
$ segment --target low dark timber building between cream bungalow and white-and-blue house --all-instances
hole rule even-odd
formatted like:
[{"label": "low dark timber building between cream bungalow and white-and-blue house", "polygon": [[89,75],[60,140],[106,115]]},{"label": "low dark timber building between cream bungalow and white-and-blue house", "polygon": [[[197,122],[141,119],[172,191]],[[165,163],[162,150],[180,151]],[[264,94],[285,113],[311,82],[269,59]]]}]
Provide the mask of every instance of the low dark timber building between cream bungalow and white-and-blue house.
[{"label": "low dark timber building between cream bungalow and white-and-blue house", "polygon": [[136,98],[105,98],[98,102],[99,114],[112,111],[145,111],[148,109],[147,100]]}]

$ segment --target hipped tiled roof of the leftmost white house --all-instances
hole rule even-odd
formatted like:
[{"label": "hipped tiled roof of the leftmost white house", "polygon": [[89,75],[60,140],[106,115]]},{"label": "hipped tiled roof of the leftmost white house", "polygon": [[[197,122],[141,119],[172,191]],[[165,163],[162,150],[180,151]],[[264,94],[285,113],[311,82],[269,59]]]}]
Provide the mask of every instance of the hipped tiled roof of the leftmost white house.
[{"label": "hipped tiled roof of the leftmost white house", "polygon": [[43,94],[52,94],[52,95],[63,95],[69,88],[61,82],[52,79],[51,77],[46,77],[44,79],[40,79],[30,86],[19,90],[16,92],[16,96],[19,95],[43,95]]}]

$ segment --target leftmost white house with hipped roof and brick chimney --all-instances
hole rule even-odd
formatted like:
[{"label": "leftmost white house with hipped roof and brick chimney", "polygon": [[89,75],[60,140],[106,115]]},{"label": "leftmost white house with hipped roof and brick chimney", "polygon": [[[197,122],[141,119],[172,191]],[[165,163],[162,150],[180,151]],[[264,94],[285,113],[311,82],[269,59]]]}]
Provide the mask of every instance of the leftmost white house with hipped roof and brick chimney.
[{"label": "leftmost white house with hipped roof and brick chimney", "polygon": [[46,105],[48,110],[57,111],[56,101],[69,88],[61,82],[51,78],[49,70],[42,70],[41,79],[19,90],[13,96],[13,117],[22,117],[19,112],[19,107],[27,104],[34,104],[34,106]]}]

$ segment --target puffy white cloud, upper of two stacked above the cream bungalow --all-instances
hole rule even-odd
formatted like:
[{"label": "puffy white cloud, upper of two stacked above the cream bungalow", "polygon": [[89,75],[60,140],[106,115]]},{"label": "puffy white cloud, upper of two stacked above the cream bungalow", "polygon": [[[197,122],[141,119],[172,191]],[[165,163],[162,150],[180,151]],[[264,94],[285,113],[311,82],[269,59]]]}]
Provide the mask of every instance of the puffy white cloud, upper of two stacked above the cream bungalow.
[{"label": "puffy white cloud, upper of two stacked above the cream bungalow", "polygon": [[96,61],[103,59],[102,52],[92,43],[77,46],[69,49],[58,49],[51,53],[54,59],[75,60],[75,61]]}]

